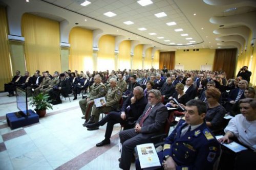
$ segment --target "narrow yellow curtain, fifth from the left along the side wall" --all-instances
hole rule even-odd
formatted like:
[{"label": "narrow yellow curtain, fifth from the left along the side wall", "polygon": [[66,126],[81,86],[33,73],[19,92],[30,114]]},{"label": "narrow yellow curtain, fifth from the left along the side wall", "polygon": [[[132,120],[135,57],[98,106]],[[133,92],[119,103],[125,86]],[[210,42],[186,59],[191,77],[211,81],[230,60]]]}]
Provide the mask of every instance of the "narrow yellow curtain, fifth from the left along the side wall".
[{"label": "narrow yellow curtain, fifth from the left along the side wall", "polygon": [[118,68],[124,70],[131,68],[131,41],[122,41],[119,45]]}]

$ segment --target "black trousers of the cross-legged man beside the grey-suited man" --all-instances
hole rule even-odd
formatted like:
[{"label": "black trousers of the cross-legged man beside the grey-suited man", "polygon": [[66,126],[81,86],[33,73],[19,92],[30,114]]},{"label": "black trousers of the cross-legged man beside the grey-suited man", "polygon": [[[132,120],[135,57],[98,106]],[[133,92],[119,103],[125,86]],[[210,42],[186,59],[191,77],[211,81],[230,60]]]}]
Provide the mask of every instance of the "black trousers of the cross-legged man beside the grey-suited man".
[{"label": "black trousers of the cross-legged man beside the grey-suited man", "polygon": [[99,121],[100,126],[108,123],[106,124],[105,139],[110,139],[115,124],[125,124],[125,120],[121,119],[120,115],[120,112],[112,111]]}]

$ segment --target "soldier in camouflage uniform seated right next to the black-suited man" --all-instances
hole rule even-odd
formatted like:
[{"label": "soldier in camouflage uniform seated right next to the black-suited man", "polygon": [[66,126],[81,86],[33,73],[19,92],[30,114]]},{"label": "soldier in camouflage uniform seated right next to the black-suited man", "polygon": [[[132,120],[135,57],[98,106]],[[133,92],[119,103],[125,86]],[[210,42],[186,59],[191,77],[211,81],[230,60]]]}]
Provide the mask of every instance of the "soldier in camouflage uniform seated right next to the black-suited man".
[{"label": "soldier in camouflage uniform seated right next to the black-suited man", "polygon": [[[118,105],[120,99],[122,98],[122,90],[119,87],[117,87],[116,82],[117,82],[116,79],[110,79],[111,88],[109,89],[108,93],[105,95],[106,103],[103,104],[101,107],[96,107],[95,104],[93,105],[91,118],[88,121],[87,125],[98,123],[100,113],[109,112],[112,110],[112,106]],[[93,130],[96,130],[96,129],[93,129]]]}]

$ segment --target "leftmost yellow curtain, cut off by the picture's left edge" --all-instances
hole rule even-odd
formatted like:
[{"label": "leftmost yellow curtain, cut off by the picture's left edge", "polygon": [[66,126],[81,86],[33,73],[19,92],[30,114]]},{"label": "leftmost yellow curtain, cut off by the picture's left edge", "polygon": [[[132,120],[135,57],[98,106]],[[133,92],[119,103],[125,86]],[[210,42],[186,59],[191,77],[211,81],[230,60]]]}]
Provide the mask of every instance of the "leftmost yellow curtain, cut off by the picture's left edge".
[{"label": "leftmost yellow curtain, cut off by the picture's left edge", "polygon": [[10,82],[12,77],[7,35],[6,10],[0,7],[0,91],[4,90],[4,84]]}]

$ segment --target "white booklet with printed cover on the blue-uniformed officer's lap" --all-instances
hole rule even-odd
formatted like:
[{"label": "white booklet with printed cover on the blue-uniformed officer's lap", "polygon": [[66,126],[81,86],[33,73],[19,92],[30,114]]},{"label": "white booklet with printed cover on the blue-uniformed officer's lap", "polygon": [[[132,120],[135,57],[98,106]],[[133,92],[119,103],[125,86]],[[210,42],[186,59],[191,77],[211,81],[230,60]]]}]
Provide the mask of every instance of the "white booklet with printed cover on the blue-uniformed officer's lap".
[{"label": "white booklet with printed cover on the blue-uniformed officer's lap", "polygon": [[137,145],[137,154],[140,160],[141,168],[161,167],[157,151],[153,143]]}]

